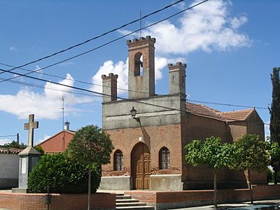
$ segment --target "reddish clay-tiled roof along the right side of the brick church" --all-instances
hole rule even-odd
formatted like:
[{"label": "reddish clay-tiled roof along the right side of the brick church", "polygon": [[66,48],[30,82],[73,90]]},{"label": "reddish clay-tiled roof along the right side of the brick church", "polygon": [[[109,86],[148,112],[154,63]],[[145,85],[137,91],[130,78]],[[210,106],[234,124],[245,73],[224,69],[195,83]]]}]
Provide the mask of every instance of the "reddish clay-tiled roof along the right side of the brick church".
[{"label": "reddish clay-tiled roof along the right side of the brick church", "polygon": [[213,118],[216,120],[233,122],[233,121],[244,121],[252,113],[253,109],[241,110],[241,111],[230,111],[221,112],[216,109],[211,109],[208,106],[202,104],[186,103],[186,111],[197,115],[204,116],[207,118]]}]

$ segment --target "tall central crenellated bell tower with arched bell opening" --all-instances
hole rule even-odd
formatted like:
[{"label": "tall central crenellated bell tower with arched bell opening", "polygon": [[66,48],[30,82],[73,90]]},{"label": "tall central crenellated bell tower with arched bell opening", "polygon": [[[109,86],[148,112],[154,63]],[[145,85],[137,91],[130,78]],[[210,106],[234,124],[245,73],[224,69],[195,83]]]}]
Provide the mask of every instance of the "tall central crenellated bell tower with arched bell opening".
[{"label": "tall central crenellated bell tower with arched bell opening", "polygon": [[127,40],[129,66],[129,98],[145,98],[155,95],[155,38],[151,36]]}]

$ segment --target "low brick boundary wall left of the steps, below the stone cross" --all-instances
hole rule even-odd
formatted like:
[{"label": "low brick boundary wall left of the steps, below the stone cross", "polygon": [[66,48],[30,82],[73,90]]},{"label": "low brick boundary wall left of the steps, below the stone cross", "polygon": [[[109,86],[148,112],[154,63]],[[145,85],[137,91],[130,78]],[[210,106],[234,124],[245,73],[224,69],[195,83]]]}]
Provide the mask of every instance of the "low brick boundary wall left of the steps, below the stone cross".
[{"label": "low brick boundary wall left of the steps, below the stone cross", "polygon": [[[92,209],[115,209],[116,194],[94,193]],[[45,210],[45,194],[0,193],[0,209]],[[87,194],[52,194],[50,210],[87,209]]]}]

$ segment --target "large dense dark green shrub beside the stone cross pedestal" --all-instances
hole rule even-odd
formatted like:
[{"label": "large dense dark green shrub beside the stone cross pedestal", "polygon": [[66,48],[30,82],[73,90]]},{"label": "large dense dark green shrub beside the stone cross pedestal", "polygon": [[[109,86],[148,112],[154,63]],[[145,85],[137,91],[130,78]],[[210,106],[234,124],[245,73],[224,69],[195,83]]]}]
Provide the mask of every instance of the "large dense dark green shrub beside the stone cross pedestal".
[{"label": "large dense dark green shrub beside the stone cross pedestal", "polygon": [[[88,167],[71,162],[64,153],[43,155],[29,174],[27,186],[30,193],[87,193]],[[92,167],[92,193],[100,182],[100,167]]]}]

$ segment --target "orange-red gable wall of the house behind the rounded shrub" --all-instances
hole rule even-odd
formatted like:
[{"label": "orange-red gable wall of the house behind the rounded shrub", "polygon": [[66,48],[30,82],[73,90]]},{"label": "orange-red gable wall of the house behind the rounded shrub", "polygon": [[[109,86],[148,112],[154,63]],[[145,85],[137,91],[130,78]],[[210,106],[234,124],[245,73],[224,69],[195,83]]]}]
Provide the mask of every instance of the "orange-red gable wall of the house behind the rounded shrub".
[{"label": "orange-red gable wall of the house behind the rounded shrub", "polygon": [[69,142],[73,138],[73,134],[69,132],[59,132],[54,137],[39,144],[45,153],[62,153],[66,150]]}]

